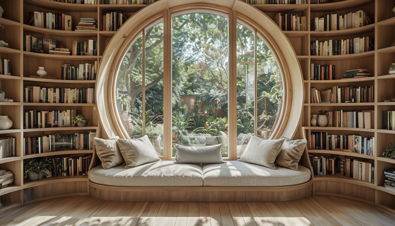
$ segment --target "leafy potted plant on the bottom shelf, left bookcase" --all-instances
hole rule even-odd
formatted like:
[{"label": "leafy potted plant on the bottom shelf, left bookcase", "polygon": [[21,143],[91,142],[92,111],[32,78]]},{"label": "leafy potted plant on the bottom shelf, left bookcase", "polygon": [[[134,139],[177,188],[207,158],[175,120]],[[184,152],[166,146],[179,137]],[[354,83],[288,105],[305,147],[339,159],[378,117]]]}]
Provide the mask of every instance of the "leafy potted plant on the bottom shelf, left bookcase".
[{"label": "leafy potted plant on the bottom shelf, left bookcase", "polygon": [[[23,164],[24,174],[27,174],[29,180],[40,180],[43,178],[45,171],[51,171],[53,167],[53,162],[49,161],[47,158],[38,160],[33,158],[30,161],[26,161]],[[49,176],[45,173],[46,176]]]}]

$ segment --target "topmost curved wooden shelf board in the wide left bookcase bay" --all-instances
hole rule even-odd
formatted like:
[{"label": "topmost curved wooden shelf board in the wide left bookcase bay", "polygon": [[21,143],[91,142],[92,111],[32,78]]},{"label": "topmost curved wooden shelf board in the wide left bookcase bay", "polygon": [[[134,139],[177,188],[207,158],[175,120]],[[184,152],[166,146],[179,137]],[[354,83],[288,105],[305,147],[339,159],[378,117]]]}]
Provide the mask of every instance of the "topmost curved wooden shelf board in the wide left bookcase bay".
[{"label": "topmost curved wooden shelf board in the wide left bookcase bay", "polygon": [[55,6],[56,8],[62,9],[62,11],[66,12],[83,11],[91,13],[97,13],[98,6],[97,4],[70,4],[55,1],[49,2],[47,0],[24,0],[23,4],[51,10],[53,10]]}]

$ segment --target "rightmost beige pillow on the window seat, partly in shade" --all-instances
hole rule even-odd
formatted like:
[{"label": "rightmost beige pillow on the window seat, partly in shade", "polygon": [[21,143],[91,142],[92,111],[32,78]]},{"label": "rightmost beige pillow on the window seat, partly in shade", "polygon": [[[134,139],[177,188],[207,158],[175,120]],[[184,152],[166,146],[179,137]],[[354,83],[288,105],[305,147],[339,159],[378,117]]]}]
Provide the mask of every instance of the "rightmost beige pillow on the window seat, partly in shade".
[{"label": "rightmost beige pillow on the window seat, partly in shade", "polygon": [[288,169],[297,170],[299,160],[305,151],[307,140],[290,140],[287,137],[281,138],[284,138],[284,142],[281,145],[281,151],[280,154],[278,154],[275,163]]}]

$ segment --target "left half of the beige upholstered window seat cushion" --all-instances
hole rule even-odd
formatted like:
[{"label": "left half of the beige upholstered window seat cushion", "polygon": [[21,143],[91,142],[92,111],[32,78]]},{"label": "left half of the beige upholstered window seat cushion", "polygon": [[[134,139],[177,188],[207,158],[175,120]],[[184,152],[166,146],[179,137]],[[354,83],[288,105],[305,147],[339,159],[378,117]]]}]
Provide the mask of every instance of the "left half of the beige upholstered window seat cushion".
[{"label": "left half of the beige upholstered window seat cushion", "polygon": [[111,186],[203,186],[201,165],[174,164],[160,160],[125,169],[97,166],[89,171],[89,180]]}]

